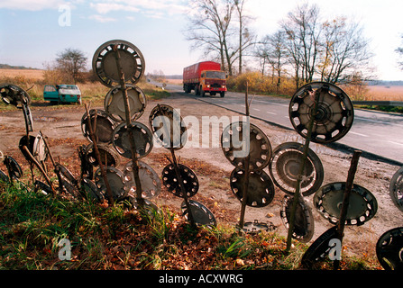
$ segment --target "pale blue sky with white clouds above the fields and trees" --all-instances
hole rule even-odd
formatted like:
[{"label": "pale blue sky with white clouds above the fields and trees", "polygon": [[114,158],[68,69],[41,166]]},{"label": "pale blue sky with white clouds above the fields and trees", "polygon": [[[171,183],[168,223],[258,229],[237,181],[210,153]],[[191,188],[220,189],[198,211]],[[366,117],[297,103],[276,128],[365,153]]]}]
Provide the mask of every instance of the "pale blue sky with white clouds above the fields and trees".
[{"label": "pale blue sky with white clouds above the fields and trees", "polygon": [[[371,40],[373,65],[382,80],[403,80],[395,49],[403,47],[403,1],[311,0],[324,19],[347,16],[362,24]],[[255,18],[252,29],[261,38],[279,28],[279,21],[303,1],[247,0]],[[66,23],[66,7],[70,23]],[[196,63],[183,31],[187,0],[0,0],[0,63],[42,68],[66,48],[84,51],[88,67],[96,49],[107,40],[123,39],[142,50],[146,73],[181,74]],[[400,59],[401,60],[401,59]]]}]

